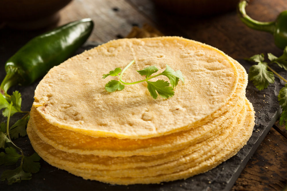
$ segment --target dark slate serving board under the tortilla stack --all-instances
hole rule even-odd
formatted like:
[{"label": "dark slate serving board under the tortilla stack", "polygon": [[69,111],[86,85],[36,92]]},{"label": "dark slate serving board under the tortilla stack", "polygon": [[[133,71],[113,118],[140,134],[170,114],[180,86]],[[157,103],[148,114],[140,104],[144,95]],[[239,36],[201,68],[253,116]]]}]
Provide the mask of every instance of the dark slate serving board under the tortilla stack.
[{"label": "dark slate serving board under the tortilla stack", "polygon": [[[79,48],[77,54],[97,46],[95,43],[86,43]],[[0,59],[1,63],[5,60]],[[251,63],[245,60],[238,60],[241,65],[248,71]],[[4,68],[4,65],[1,66]],[[276,67],[276,71],[282,76],[287,76],[284,71]],[[0,80],[5,76],[5,71],[0,70]],[[11,92],[19,90],[22,93],[22,110],[28,111],[33,103],[34,89],[39,81],[36,81],[30,86],[17,86],[11,88]],[[253,134],[247,145],[245,145],[234,157],[223,162],[216,168],[186,180],[177,180],[173,182],[165,182],[161,184],[136,184],[129,186],[119,186],[105,184],[98,181],[84,180],[81,177],[69,174],[67,171],[53,167],[41,159],[40,171],[32,175],[32,180],[22,181],[12,185],[7,185],[6,182],[0,182],[0,190],[230,190],[239,174],[245,167],[247,161],[253,155],[261,141],[266,136],[269,129],[272,127],[276,119],[280,115],[280,107],[277,101],[279,90],[284,86],[278,78],[275,83],[271,84],[268,89],[258,91],[252,83],[248,83],[246,96],[254,106],[255,110],[255,127]],[[15,117],[14,117],[15,116]],[[13,124],[19,117],[14,115],[11,120]],[[6,121],[2,115],[0,122]],[[21,137],[14,141],[16,145],[21,147],[26,154],[34,153],[28,136]],[[3,149],[0,149],[3,151]],[[0,174],[6,169],[15,169],[17,165],[8,167],[0,166]]]}]

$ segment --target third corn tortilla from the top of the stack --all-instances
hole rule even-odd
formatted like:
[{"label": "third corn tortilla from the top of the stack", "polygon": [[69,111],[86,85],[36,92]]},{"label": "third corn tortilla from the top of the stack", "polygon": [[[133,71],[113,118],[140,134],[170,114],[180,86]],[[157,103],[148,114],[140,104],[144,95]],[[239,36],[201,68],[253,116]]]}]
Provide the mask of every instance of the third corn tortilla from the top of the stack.
[{"label": "third corn tortilla from the top of the stack", "polygon": [[[209,145],[214,139],[221,139],[221,140],[226,139],[226,137],[230,133],[230,130],[233,128],[235,122],[237,120],[240,120],[238,118],[244,117],[243,110],[244,111],[246,110],[245,107],[242,108],[241,112],[239,111],[237,112],[238,115],[234,118],[231,124],[229,124],[229,127],[226,127],[223,130],[221,130],[221,132],[219,132],[217,136],[210,137],[209,139],[206,139],[194,145],[190,145],[189,147],[186,147],[179,151],[172,151],[172,152],[163,153],[159,155],[152,155],[152,156],[134,155],[131,157],[109,157],[109,156],[97,156],[97,155],[79,155],[78,153],[67,153],[59,149],[56,149],[52,147],[51,145],[48,145],[46,142],[42,141],[40,137],[38,136],[34,139],[37,139],[36,143],[39,142],[38,147],[40,148],[38,148],[37,150],[40,153],[42,153],[41,150],[49,150],[49,153],[45,153],[42,155],[46,155],[46,156],[49,155],[50,157],[54,158],[56,161],[63,161],[63,163],[69,164],[72,166],[77,166],[80,164],[80,167],[83,167],[83,168],[97,168],[97,169],[110,169],[110,170],[111,169],[114,169],[114,170],[123,169],[123,168],[135,168],[135,167],[142,167],[142,166],[152,166],[152,165],[158,165],[161,163],[166,163],[168,161],[172,161],[177,158],[181,158],[187,154],[190,155],[191,153],[197,150],[200,150],[198,152],[200,152],[200,154],[203,154],[204,152],[208,152],[214,149],[214,147],[216,147],[216,144],[212,144],[210,147],[205,147],[205,146]],[[28,128],[33,129],[31,126],[31,122],[29,122]],[[37,132],[37,130],[33,129],[33,132],[35,133]],[[234,132],[236,131],[232,131],[232,133]],[[193,159],[195,157],[196,156],[194,156]]]}]

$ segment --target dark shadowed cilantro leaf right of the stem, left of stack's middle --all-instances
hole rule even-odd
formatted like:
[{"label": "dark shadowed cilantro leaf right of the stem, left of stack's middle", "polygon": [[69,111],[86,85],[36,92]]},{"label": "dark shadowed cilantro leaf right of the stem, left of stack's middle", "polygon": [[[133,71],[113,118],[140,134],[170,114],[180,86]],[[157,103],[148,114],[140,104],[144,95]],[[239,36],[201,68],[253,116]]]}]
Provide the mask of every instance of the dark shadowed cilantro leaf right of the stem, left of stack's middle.
[{"label": "dark shadowed cilantro leaf right of the stem, left of stack's middle", "polygon": [[29,121],[29,118],[30,116],[28,115],[27,117],[23,119],[19,119],[10,127],[9,134],[10,134],[11,139],[18,139],[19,135],[21,137],[24,137],[27,135],[26,125],[27,125],[27,122]]}]

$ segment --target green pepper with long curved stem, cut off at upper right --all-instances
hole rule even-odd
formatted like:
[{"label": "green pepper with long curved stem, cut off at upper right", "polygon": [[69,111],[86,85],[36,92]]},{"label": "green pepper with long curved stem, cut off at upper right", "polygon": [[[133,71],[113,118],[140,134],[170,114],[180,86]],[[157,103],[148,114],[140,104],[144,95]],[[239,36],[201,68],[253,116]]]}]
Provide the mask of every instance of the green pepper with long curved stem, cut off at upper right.
[{"label": "green pepper with long curved stem, cut off at upper right", "polygon": [[281,49],[287,46],[287,10],[281,12],[274,22],[259,22],[251,19],[245,12],[246,1],[238,4],[240,19],[248,27],[269,32],[274,36],[275,45]]}]

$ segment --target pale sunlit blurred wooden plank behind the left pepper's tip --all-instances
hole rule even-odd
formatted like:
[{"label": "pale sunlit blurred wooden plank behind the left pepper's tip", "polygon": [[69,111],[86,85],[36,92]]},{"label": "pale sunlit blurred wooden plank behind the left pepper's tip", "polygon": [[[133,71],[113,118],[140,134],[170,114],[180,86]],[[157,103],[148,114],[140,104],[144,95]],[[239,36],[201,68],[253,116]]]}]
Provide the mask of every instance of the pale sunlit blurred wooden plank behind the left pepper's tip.
[{"label": "pale sunlit blurred wooden plank behind the left pepper's tip", "polygon": [[94,31],[88,40],[99,44],[123,38],[133,26],[144,23],[154,25],[124,0],[74,0],[60,11],[58,25],[90,17],[94,21]]}]

